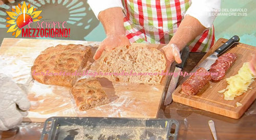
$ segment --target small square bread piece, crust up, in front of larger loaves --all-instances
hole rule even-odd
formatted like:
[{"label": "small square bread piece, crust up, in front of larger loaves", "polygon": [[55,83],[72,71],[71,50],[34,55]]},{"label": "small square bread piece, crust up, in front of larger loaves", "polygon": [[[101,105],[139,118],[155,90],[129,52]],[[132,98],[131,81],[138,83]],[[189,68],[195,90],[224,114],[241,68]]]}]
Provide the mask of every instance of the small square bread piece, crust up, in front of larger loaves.
[{"label": "small square bread piece, crust up, in front of larger loaves", "polygon": [[96,78],[77,81],[71,92],[80,110],[87,110],[109,103],[108,97]]}]

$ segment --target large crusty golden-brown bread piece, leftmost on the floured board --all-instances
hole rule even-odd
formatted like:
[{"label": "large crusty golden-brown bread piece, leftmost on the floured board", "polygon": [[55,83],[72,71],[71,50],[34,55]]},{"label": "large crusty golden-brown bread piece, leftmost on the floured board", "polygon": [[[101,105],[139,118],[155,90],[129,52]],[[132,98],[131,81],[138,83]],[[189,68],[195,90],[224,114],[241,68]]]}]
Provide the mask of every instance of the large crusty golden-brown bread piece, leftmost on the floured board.
[{"label": "large crusty golden-brown bread piece, leftmost on the floured board", "polygon": [[[57,45],[42,51],[31,68],[33,79],[47,85],[72,87],[78,72],[87,65],[91,47]],[[65,73],[63,73],[65,72]]]}]

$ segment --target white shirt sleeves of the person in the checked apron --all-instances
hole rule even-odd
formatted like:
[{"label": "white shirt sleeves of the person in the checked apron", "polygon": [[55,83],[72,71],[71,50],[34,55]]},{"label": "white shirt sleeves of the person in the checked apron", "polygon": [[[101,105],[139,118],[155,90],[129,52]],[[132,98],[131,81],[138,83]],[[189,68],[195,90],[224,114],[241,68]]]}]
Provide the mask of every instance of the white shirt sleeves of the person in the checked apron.
[{"label": "white shirt sleeves of the person in the checked apron", "polygon": [[[221,7],[221,0],[191,0],[191,6],[185,15],[190,15],[199,20],[206,28],[214,23]],[[88,4],[98,18],[99,12],[113,7],[123,9],[121,0],[88,0]]]}]

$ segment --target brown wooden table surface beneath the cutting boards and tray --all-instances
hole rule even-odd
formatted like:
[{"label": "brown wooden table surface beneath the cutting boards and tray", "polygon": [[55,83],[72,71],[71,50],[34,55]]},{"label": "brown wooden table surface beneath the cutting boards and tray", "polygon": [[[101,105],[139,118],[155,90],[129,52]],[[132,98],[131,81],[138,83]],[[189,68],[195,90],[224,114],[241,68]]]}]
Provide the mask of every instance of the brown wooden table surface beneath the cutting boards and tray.
[{"label": "brown wooden table surface beneath the cutting boards and tray", "polygon": [[[190,53],[183,71],[192,70],[204,54]],[[181,79],[182,77],[179,80]],[[178,139],[213,139],[208,126],[209,120],[215,122],[218,139],[256,139],[256,101],[238,120],[176,102],[161,106],[158,118],[171,118],[179,121]],[[3,131],[2,139],[37,140],[40,139],[43,127],[44,123],[23,122],[16,129]]]}]

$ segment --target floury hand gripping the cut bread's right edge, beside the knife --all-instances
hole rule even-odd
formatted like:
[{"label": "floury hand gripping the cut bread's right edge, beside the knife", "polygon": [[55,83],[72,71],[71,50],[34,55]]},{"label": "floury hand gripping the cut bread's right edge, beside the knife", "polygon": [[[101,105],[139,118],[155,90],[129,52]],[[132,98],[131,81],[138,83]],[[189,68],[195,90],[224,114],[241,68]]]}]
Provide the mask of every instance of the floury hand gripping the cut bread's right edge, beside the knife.
[{"label": "floury hand gripping the cut bread's right edge, beside the knife", "polygon": [[181,63],[180,58],[180,49],[175,44],[168,44],[161,48],[164,51],[165,57],[168,63],[173,63],[176,61],[177,63]]}]

